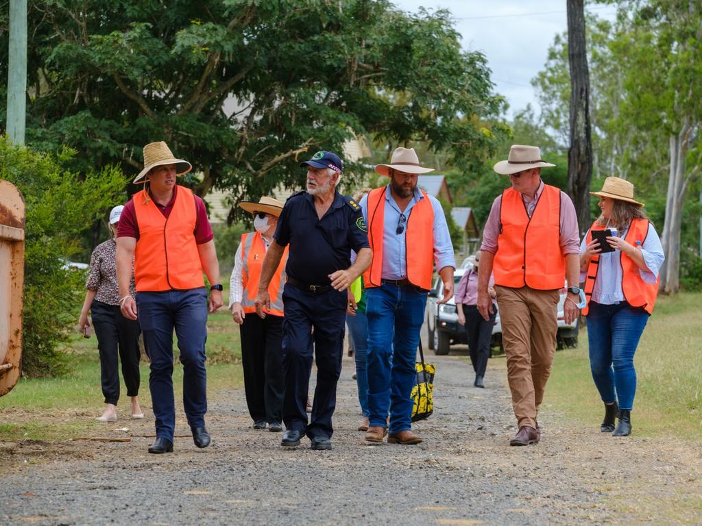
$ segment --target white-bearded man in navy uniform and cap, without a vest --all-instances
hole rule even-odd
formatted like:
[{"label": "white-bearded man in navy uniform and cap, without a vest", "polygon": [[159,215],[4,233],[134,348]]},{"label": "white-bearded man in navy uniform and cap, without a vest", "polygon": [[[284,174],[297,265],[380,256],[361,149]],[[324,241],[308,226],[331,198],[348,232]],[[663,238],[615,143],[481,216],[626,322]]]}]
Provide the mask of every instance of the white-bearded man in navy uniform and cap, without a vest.
[{"label": "white-bearded man in navy uniform and cap, without a vest", "polygon": [[[313,450],[331,449],[331,416],[341,372],[347,288],[371,264],[366,224],[360,206],[338,193],[343,164],[331,151],[318,151],[300,163],[307,167],[307,191],[285,203],[278,228],[263,260],[256,311],[270,308],[268,283],[286,245],[290,245],[283,292],[284,447],[297,447],[307,435]],[[351,264],[351,250],[357,253]],[[314,330],[314,332],[313,332]],[[307,388],[312,372],[312,339],[317,389],[307,423]]]}]

